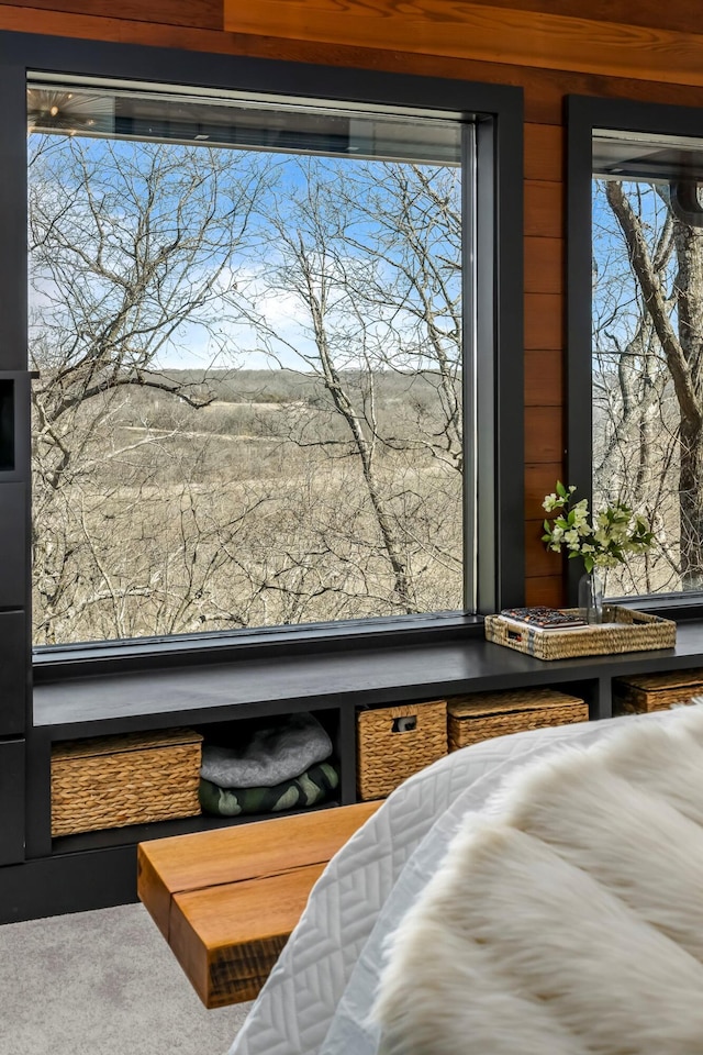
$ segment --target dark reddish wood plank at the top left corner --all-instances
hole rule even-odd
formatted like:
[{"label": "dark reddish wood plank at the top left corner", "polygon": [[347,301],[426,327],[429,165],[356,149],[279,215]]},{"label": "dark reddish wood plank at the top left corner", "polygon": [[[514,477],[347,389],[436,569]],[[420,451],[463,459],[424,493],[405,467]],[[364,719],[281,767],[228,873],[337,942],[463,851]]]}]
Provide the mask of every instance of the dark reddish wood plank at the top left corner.
[{"label": "dark reddish wood plank at the top left corner", "polygon": [[[10,4],[0,4],[10,7]],[[222,30],[224,12],[222,0],[15,0],[12,7],[90,14],[136,22],[191,25],[201,30]]]}]

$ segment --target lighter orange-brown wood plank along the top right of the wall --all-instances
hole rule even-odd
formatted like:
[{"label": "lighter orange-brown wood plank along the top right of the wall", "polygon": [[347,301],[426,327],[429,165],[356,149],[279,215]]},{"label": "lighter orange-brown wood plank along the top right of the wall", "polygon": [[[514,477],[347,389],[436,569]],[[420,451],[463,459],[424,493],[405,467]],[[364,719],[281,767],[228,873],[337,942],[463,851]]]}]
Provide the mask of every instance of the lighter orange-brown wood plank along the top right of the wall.
[{"label": "lighter orange-brown wood plank along the top right of the wall", "polygon": [[[703,85],[703,35],[455,0],[224,0],[233,33]],[[695,24],[695,23],[694,23]]]}]

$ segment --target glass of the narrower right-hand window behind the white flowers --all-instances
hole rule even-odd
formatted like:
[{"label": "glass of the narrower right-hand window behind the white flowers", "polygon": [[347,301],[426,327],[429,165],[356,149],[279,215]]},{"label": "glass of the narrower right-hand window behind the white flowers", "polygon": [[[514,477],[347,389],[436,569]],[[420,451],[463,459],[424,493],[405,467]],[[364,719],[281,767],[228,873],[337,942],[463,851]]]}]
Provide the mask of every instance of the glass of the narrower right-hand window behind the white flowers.
[{"label": "glass of the narrower right-hand window behind the white flowers", "polygon": [[606,592],[703,589],[703,142],[602,131],[593,145],[593,497],[659,544]]}]

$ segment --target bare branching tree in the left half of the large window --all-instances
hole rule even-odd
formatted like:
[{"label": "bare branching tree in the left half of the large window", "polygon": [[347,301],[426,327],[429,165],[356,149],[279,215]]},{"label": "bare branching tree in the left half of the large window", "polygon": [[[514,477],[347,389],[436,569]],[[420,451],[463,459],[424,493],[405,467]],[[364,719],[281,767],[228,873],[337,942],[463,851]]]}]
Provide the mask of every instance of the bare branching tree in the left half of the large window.
[{"label": "bare branching tree in the left half of the large window", "polygon": [[96,481],[109,463],[124,482],[140,448],[164,444],[148,427],[120,429],[130,389],[192,408],[213,399],[207,371],[176,381],[160,357],[193,342],[205,364],[231,354],[234,260],[266,164],[78,136],[33,135],[30,148],[36,629],[53,641],[67,619],[90,608],[99,622],[108,607],[122,636],[125,599],[150,596],[154,582],[113,574],[87,524],[110,495],[132,509],[141,499]]}]

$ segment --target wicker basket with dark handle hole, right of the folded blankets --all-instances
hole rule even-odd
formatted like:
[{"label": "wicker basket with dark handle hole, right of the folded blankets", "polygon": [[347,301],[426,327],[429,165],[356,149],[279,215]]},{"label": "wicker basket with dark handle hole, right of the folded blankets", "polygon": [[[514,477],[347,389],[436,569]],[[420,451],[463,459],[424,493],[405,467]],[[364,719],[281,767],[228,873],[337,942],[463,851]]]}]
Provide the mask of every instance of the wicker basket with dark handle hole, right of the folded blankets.
[{"label": "wicker basket with dark handle hole, right of the folded blankets", "polygon": [[[410,722],[403,722],[403,719]],[[403,729],[406,724],[413,728]],[[357,792],[360,799],[384,798],[413,773],[432,765],[446,753],[446,700],[357,712]]]}]

